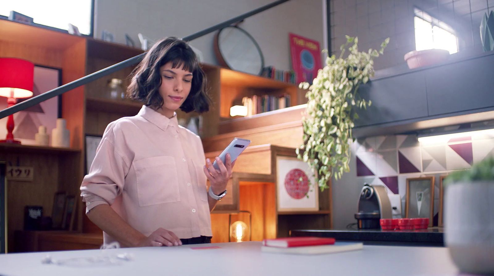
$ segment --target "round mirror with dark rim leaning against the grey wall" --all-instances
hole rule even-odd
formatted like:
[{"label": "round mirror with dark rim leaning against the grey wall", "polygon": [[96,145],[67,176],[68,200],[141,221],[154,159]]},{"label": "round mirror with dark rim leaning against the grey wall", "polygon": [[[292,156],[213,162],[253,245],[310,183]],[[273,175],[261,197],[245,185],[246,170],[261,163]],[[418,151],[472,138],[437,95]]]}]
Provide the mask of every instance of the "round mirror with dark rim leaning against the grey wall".
[{"label": "round mirror with dark rim leaning against the grey wall", "polygon": [[232,70],[260,75],[264,67],[261,48],[245,30],[228,26],[216,33],[214,50],[220,65]]}]

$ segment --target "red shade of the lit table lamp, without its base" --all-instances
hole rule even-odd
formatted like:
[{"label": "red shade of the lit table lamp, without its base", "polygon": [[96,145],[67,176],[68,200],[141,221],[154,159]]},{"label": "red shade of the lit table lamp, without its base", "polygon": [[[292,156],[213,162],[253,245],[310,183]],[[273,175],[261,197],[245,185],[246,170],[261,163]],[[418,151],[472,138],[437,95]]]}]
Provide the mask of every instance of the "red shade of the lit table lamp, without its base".
[{"label": "red shade of the lit table lamp, without its base", "polygon": [[27,98],[33,95],[34,64],[24,59],[0,58],[0,96]]}]

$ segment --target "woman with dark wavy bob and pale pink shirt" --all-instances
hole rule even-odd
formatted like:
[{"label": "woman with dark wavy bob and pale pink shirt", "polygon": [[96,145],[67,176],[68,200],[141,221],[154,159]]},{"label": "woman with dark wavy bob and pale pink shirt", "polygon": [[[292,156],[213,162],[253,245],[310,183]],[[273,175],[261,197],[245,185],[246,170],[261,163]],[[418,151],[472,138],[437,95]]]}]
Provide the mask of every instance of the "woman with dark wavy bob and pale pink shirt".
[{"label": "woman with dark wavy bob and pale pink shirt", "polygon": [[[206,76],[184,41],[165,38],[132,73],[128,95],[144,103],[136,116],[108,125],[81,185],[88,218],[105,243],[176,246],[208,243],[209,212],[232,174],[206,159],[201,139],[177,123],[175,110],[205,112]],[[206,178],[211,187],[206,190]]]}]

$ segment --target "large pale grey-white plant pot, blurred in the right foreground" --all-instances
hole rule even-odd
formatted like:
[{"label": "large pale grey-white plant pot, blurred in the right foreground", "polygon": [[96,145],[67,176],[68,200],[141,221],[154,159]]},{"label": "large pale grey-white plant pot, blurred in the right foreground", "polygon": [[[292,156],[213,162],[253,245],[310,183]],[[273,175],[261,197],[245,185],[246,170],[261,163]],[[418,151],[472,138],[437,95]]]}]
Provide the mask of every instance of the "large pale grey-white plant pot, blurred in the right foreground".
[{"label": "large pale grey-white plant pot, blurred in the right foreground", "polygon": [[446,188],[445,242],[463,273],[494,275],[494,183]]}]

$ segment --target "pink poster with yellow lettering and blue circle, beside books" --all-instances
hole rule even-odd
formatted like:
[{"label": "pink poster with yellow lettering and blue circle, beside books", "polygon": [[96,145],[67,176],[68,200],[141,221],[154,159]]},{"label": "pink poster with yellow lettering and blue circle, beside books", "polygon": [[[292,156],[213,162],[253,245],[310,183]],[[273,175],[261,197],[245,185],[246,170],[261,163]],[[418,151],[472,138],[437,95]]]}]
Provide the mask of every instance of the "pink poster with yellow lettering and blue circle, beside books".
[{"label": "pink poster with yellow lettering and blue circle, beside books", "polygon": [[289,33],[291,66],[297,76],[297,83],[312,84],[321,69],[319,42]]}]

